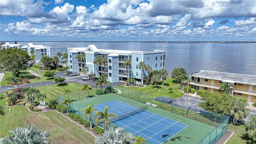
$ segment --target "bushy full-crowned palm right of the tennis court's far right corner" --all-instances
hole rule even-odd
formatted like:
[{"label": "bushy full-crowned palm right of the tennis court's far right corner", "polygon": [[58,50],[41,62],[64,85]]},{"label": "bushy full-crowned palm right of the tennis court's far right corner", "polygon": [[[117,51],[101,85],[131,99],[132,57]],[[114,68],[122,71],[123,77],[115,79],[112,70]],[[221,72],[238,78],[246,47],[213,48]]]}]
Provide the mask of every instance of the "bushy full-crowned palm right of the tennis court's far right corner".
[{"label": "bushy full-crowned palm right of the tennis court's far right corner", "polygon": [[230,116],[234,116],[233,124],[236,124],[237,120],[242,120],[250,114],[249,104],[243,98],[232,97],[232,107],[230,110]]}]

